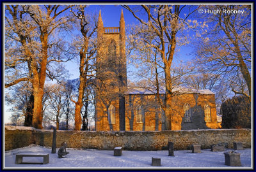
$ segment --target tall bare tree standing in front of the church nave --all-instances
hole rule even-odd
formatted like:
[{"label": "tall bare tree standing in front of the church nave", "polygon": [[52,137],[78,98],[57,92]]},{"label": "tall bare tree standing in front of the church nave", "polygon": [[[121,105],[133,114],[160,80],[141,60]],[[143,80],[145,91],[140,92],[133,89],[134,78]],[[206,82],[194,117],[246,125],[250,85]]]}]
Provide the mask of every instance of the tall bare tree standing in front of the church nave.
[{"label": "tall bare tree standing in front of the church nave", "polygon": [[[154,49],[159,54],[160,62],[164,73],[164,88],[166,94],[164,97],[164,106],[162,106],[165,117],[171,117],[172,114],[172,96],[173,80],[171,76],[173,55],[180,45],[188,43],[187,37],[183,34],[189,28],[196,27],[197,21],[189,24],[189,15],[197,10],[196,6],[180,5],[141,5],[141,8],[124,5],[132,15],[139,20],[141,25],[136,26],[136,37],[130,36],[137,50]],[[135,8],[138,8],[137,10]],[[182,13],[187,8],[187,14]],[[145,13],[146,17],[140,15]],[[185,17],[184,17],[185,16]],[[135,38],[135,39],[134,39]],[[148,39],[149,38],[149,39]],[[153,63],[154,64],[154,63]],[[157,64],[158,65],[158,64]],[[157,66],[158,68],[159,66]],[[166,129],[172,129],[171,119],[166,118]]]}]

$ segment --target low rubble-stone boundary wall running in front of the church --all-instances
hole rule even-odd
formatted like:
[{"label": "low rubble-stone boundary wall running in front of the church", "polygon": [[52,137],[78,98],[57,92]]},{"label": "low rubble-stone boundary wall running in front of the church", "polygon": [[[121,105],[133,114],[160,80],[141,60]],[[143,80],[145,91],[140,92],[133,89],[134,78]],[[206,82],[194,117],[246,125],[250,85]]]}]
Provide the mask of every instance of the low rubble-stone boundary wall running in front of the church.
[{"label": "low rubble-stone boundary wall running in front of the church", "polygon": [[[36,144],[52,146],[53,130],[38,130],[33,127],[5,127],[5,150]],[[164,150],[168,141],[175,150],[188,149],[199,144],[202,149],[212,144],[225,143],[233,148],[233,142],[243,142],[244,148],[251,147],[251,129],[201,129],[188,131],[57,131],[57,147],[66,141],[68,148],[97,148],[112,150]]]}]

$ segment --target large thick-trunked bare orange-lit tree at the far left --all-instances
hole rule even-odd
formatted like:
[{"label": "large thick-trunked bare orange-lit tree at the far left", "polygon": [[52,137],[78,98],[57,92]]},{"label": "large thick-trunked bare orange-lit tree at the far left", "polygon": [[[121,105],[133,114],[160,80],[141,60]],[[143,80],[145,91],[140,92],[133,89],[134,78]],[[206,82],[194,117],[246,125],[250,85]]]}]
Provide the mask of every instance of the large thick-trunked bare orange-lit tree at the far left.
[{"label": "large thick-trunked bare orange-lit tree at the far left", "polygon": [[63,42],[56,38],[59,29],[67,28],[68,21],[72,20],[63,15],[69,8],[70,6],[60,5],[6,5],[6,38],[8,39],[5,54],[5,87],[11,87],[21,81],[32,83],[33,127],[38,129],[42,129],[45,78],[47,76],[51,79],[56,78],[50,70],[50,62],[61,62],[64,57],[65,51],[61,45]]}]

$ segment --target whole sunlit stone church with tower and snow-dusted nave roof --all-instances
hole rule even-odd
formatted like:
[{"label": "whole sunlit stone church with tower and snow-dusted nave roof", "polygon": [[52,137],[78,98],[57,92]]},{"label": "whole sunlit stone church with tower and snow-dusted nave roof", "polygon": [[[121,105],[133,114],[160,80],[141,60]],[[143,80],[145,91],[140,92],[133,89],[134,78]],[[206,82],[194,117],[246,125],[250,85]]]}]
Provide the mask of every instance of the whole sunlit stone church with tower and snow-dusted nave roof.
[{"label": "whole sunlit stone church with tower and snow-dusted nave roof", "polygon": [[210,90],[173,89],[172,115],[164,117],[155,90],[128,88],[123,11],[119,27],[104,27],[100,12],[97,25],[96,131],[163,131],[165,122],[172,130],[218,128]]}]

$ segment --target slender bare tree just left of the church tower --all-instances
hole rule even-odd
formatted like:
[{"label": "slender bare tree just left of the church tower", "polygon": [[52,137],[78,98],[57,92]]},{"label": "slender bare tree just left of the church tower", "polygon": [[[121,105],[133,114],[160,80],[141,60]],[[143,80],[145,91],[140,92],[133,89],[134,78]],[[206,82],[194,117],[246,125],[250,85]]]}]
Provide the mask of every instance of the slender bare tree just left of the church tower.
[{"label": "slender bare tree just left of the church tower", "polygon": [[74,41],[74,48],[79,54],[79,89],[77,101],[72,99],[76,104],[75,109],[75,127],[74,130],[81,130],[81,108],[83,106],[84,89],[88,85],[88,80],[95,76],[95,41],[93,41],[94,33],[97,29],[97,22],[93,16],[86,14],[86,6],[77,5],[72,8],[72,13],[76,17],[81,36]]}]

